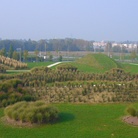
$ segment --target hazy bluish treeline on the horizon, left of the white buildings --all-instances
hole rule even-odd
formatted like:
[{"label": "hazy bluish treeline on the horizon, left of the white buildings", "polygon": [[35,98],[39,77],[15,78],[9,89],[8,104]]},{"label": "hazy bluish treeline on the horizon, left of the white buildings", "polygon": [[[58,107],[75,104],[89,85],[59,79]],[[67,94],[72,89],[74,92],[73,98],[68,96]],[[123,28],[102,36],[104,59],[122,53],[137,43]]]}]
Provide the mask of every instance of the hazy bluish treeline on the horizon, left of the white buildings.
[{"label": "hazy bluish treeline on the horizon, left of the white buildings", "polygon": [[93,41],[83,39],[0,40],[0,49],[9,51],[10,46],[17,51],[19,49],[22,51],[93,51]]}]

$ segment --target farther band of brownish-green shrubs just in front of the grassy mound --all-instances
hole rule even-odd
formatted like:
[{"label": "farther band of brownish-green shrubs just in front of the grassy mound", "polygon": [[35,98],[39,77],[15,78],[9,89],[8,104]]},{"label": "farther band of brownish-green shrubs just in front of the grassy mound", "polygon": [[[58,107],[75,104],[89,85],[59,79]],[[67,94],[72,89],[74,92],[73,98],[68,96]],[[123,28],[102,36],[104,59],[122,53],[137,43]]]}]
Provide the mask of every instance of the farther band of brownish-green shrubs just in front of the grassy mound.
[{"label": "farther band of brownish-green shrubs just in front of the grassy mound", "polygon": [[18,76],[23,79],[25,86],[45,86],[47,83],[66,82],[66,81],[137,81],[138,75],[132,75],[124,72],[122,69],[113,69],[104,74],[91,74],[79,72],[74,67],[63,69],[58,67],[57,70],[49,68],[35,68],[31,72],[24,73]]}]

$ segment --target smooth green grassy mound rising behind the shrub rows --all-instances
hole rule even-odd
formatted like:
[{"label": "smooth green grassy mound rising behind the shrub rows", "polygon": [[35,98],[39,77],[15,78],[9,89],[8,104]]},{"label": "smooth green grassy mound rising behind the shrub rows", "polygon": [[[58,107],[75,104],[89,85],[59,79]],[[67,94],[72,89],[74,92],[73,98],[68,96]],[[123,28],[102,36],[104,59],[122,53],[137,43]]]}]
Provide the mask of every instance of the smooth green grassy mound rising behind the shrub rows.
[{"label": "smooth green grassy mound rising behind the shrub rows", "polygon": [[92,73],[104,73],[112,68],[121,68],[121,65],[104,54],[88,54],[75,62],[70,63],[78,70]]}]

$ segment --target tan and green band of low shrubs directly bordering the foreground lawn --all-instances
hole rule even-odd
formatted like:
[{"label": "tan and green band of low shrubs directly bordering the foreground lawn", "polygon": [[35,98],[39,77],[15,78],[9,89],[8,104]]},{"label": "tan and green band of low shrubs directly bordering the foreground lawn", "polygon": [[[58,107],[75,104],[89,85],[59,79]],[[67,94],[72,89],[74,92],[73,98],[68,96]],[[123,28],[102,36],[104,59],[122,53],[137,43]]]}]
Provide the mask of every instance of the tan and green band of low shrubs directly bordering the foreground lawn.
[{"label": "tan and green band of low shrubs directly bordering the foreground lawn", "polygon": [[138,83],[86,81],[55,83],[53,86],[32,87],[38,99],[48,103],[135,102]]}]

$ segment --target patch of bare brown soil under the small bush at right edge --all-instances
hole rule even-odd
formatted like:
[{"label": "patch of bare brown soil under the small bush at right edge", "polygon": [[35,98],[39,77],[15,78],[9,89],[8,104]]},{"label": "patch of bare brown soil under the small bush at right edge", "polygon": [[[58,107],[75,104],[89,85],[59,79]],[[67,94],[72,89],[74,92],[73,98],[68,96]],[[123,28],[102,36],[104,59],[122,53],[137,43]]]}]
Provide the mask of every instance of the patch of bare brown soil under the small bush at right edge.
[{"label": "patch of bare brown soil under the small bush at right edge", "polygon": [[134,126],[138,126],[138,117],[136,116],[125,116],[123,121]]}]

